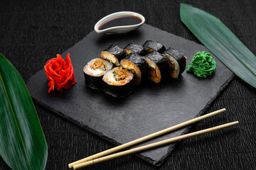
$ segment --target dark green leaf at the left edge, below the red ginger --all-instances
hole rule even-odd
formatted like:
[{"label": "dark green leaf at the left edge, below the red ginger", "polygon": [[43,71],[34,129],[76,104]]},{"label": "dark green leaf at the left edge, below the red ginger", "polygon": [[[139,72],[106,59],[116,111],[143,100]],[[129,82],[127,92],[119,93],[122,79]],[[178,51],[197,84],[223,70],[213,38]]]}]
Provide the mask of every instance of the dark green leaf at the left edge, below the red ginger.
[{"label": "dark green leaf at the left edge, below the red ginger", "polygon": [[21,75],[0,53],[0,156],[11,169],[45,169],[46,138]]}]

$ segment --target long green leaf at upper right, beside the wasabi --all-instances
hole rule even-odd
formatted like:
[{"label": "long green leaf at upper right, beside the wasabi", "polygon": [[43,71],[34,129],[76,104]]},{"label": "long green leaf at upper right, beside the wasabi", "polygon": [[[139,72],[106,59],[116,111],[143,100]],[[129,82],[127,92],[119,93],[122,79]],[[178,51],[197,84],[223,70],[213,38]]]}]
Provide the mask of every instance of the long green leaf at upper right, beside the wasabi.
[{"label": "long green leaf at upper right, beside the wasabi", "polygon": [[234,74],[256,88],[256,57],[215,16],[181,4],[181,21]]}]

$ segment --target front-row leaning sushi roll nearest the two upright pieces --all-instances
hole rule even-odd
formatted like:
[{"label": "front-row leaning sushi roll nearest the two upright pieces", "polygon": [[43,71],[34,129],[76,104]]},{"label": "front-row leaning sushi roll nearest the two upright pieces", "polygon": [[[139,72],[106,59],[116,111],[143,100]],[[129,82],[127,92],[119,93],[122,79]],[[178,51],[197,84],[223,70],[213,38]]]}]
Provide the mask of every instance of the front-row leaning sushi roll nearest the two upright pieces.
[{"label": "front-row leaning sushi roll nearest the two upright pieces", "polygon": [[147,76],[149,70],[144,58],[137,53],[130,53],[121,60],[120,64],[124,69],[128,69],[134,74],[135,85],[139,85],[142,82],[142,79]]}]

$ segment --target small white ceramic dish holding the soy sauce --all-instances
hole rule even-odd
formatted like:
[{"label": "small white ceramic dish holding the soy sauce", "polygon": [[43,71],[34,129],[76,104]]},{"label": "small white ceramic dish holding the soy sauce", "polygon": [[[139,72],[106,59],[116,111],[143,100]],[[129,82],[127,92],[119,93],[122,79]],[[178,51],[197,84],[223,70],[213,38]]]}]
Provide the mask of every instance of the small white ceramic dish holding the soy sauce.
[{"label": "small white ceramic dish holding the soy sauce", "polygon": [[[104,23],[105,21],[108,21],[111,18],[117,17],[117,16],[137,16],[142,19],[141,23],[138,23],[136,25],[131,25],[131,26],[115,26],[111,28],[106,28],[104,30],[99,30],[99,27]],[[137,28],[141,27],[143,23],[145,22],[144,16],[142,16],[139,13],[131,12],[131,11],[121,11],[121,12],[116,12],[116,13],[111,13],[108,16],[105,16],[104,18],[100,19],[95,24],[95,31],[96,33],[105,33],[105,34],[114,34],[114,33],[128,33],[132,30],[136,30]]]}]

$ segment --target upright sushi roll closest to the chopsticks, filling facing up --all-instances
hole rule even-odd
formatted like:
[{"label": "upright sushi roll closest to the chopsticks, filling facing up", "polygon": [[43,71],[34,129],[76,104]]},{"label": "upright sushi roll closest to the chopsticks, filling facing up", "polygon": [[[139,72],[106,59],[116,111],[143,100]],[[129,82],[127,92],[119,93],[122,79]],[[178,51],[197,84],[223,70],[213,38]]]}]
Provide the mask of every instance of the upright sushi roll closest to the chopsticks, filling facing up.
[{"label": "upright sushi roll closest to the chopsticks, filling facing up", "polygon": [[103,78],[104,91],[114,97],[127,96],[134,89],[134,74],[122,67],[114,67]]}]

